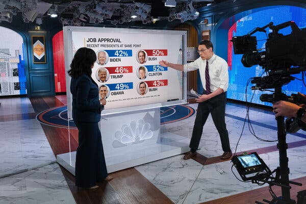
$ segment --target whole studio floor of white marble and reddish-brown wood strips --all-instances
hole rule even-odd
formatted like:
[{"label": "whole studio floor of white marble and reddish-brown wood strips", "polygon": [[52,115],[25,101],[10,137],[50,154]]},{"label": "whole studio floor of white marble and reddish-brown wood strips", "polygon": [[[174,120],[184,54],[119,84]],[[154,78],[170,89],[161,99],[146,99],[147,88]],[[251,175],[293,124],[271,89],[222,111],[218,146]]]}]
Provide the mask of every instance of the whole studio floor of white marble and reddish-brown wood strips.
[{"label": "whole studio floor of white marble and reddish-brown wood strips", "polygon": [[[0,106],[0,203],[205,203],[247,204],[256,200],[271,200],[267,185],[243,183],[230,160],[222,155],[219,135],[208,118],[201,138],[201,148],[194,159],[183,160],[177,155],[155,162],[111,173],[114,179],[100,183],[97,190],[88,191],[74,185],[74,176],[56,162],[56,155],[75,150],[77,130],[68,130],[40,123],[36,115],[50,108],[66,105],[66,96],[8,97]],[[188,106],[196,109],[197,104]],[[251,108],[245,124],[246,108],[229,102],[226,105],[226,125],[233,152],[256,151],[271,170],[279,164],[274,115],[266,109]],[[184,135],[192,130],[195,114],[169,124],[168,130]],[[242,133],[243,130],[243,133]],[[240,138],[240,135],[241,138]],[[240,138],[240,140],[239,140]],[[238,143],[239,141],[239,143]],[[291,198],[306,189],[306,135],[303,131],[286,136]],[[238,143],[238,144],[237,144]],[[237,147],[237,149],[236,149]],[[240,178],[240,177],[239,177]],[[277,196],[281,188],[272,187]]]}]

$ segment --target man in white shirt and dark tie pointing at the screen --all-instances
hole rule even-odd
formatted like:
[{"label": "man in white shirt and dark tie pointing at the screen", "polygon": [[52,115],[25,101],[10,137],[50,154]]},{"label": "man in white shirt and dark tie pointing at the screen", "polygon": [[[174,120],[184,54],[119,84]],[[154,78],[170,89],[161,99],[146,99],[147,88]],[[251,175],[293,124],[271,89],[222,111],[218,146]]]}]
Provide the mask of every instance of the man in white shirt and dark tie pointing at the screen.
[{"label": "man in white shirt and dark tie pointing at the screen", "polygon": [[213,44],[209,40],[200,42],[198,53],[200,54],[198,59],[185,65],[173,64],[165,60],[159,62],[162,66],[171,67],[180,71],[199,69],[202,86],[205,89],[202,95],[195,99],[199,104],[189,145],[190,151],[187,152],[184,159],[187,160],[196,155],[203,126],[209,114],[212,115],[214,124],[220,135],[221,145],[224,151],[220,158],[223,160],[230,159],[232,157],[232,151],[225,124],[228,65],[225,60],[214,54]]}]

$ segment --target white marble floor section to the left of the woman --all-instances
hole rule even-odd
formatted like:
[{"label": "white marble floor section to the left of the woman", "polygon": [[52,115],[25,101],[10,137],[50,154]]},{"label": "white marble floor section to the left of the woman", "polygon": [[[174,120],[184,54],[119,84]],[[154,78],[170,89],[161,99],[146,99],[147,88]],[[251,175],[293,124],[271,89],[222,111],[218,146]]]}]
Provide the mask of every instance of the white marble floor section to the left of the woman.
[{"label": "white marble floor section to the left of the woman", "polygon": [[[1,99],[0,203],[74,203],[29,98]],[[21,120],[9,119],[23,114]]]}]

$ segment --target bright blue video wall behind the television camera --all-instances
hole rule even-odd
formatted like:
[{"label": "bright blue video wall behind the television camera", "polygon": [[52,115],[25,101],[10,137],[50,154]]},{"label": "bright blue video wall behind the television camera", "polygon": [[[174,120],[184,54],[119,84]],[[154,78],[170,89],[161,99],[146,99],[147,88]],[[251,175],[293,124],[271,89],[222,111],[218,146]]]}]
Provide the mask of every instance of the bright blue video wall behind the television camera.
[{"label": "bright blue video wall behind the television camera", "polygon": [[[251,11],[250,11],[251,12]],[[241,19],[239,19],[232,28],[228,31],[228,42],[232,39],[232,36],[243,36],[250,33],[253,29],[257,27],[263,27],[269,22],[273,22],[274,25],[281,24],[286,21],[293,20],[300,29],[306,28],[306,9],[292,6],[274,6],[265,7],[262,11],[251,13]],[[266,29],[267,34],[271,30]],[[291,33],[291,28],[287,27],[285,29],[279,30],[279,33],[288,35]],[[265,42],[267,36],[263,32],[257,32],[252,36],[257,37],[257,48],[265,48]],[[283,47],[286,49],[286,47]],[[260,52],[262,52],[261,50]],[[254,65],[252,67],[244,67],[241,63],[242,55],[235,55],[233,52],[233,45],[231,42],[228,46],[228,64],[230,65],[228,69],[229,74],[229,87],[227,91],[227,98],[232,98],[236,100],[245,101],[245,90],[246,83],[249,78],[260,77],[264,70],[259,65]],[[301,74],[295,74],[294,77],[301,79]],[[247,101],[251,100],[253,95],[253,90],[250,87],[247,88]],[[301,81],[294,80],[288,85],[283,86],[283,92],[287,95],[292,93],[297,93],[298,91],[306,93],[306,88]],[[270,103],[262,102],[260,100],[260,95],[263,93],[271,94],[269,91],[255,91],[252,103],[271,106]]]}]

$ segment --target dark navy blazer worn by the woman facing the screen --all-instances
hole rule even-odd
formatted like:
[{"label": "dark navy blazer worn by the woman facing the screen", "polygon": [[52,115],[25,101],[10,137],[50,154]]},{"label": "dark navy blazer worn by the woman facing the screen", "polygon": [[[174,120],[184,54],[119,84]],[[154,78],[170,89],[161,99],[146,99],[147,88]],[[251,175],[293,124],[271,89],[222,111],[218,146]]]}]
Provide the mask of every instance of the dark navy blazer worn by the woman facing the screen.
[{"label": "dark navy blazer worn by the woman facing the screen", "polygon": [[77,122],[99,122],[101,110],[98,85],[86,74],[71,78],[72,118]]}]

